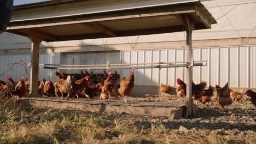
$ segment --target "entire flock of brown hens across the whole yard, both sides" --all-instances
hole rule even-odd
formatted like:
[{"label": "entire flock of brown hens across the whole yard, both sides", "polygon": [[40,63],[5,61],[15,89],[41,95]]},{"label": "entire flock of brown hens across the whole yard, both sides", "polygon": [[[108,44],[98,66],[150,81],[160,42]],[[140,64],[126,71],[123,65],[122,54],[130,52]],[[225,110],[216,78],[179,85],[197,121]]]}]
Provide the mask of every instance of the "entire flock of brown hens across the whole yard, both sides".
[{"label": "entire flock of brown hens across the whole yard, both sides", "polygon": [[[76,97],[76,98],[93,98],[100,97],[102,100],[110,100],[111,97],[119,98],[118,93],[124,97],[124,102],[127,103],[127,96],[129,96],[134,87],[134,71],[131,71],[130,77],[123,77],[121,82],[119,82],[119,75],[117,71],[114,71],[112,75],[111,70],[108,71],[108,74],[103,70],[103,76],[94,75],[93,70],[89,74],[88,71],[81,74],[75,74],[74,76],[67,75],[63,73],[62,75],[56,71],[57,82],[53,83],[50,80],[41,80],[38,82],[38,93],[43,96],[48,97]],[[8,78],[9,83],[0,80],[0,94],[3,95],[7,91],[18,95],[20,98],[24,98],[30,92],[30,82],[24,81],[24,78],[21,77],[18,83],[15,83],[11,77]],[[187,95],[187,85],[181,79],[177,79],[177,95],[179,97],[185,97]],[[211,97],[214,95],[214,87],[210,86],[208,89],[205,89],[207,83],[205,81],[200,82],[195,85],[193,82],[192,92],[193,99],[196,100],[196,104],[200,101],[203,106],[211,102]],[[171,86],[160,85],[160,90],[162,93],[167,93],[170,91]],[[232,103],[230,95],[234,98],[235,101],[240,101],[243,98],[243,94],[251,97],[252,103],[256,106],[256,93],[251,89],[248,89],[246,93],[235,92],[229,88],[228,83],[221,88],[216,85],[217,91],[217,100],[221,109],[228,109],[228,105]],[[243,99],[242,99],[243,100]]]}]

